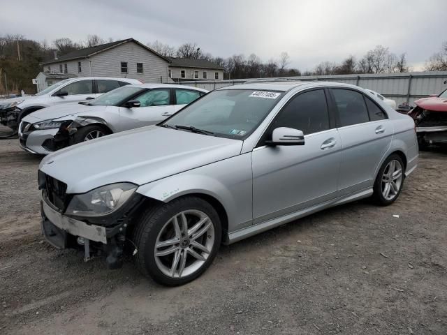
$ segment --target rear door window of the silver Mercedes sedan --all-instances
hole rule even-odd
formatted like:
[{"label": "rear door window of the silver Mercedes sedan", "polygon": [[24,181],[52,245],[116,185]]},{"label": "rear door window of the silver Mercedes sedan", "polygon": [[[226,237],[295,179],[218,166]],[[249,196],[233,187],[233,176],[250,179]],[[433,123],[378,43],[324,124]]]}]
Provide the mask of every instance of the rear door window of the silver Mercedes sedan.
[{"label": "rear door window of the silver Mercedes sedan", "polygon": [[332,89],[337,105],[340,126],[351,126],[369,121],[363,94],[351,89]]}]

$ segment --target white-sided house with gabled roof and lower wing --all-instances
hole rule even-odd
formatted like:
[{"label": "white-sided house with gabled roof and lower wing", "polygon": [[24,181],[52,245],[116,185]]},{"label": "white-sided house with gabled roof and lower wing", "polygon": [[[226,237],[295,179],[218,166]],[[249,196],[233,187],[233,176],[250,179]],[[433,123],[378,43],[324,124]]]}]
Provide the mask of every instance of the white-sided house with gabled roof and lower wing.
[{"label": "white-sided house with gabled roof and lower wing", "polygon": [[141,82],[223,79],[223,68],[211,61],[163,57],[133,38],[75,50],[41,65],[44,73],[128,77]]}]

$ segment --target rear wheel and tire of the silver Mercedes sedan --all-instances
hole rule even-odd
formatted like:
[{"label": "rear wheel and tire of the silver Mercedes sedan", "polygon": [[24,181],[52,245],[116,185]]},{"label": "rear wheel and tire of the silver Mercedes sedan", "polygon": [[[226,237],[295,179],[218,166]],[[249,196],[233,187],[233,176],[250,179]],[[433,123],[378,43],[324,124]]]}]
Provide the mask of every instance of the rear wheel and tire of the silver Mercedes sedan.
[{"label": "rear wheel and tire of the silver Mercedes sedan", "polygon": [[374,182],[373,198],[381,206],[388,206],[399,198],[404,186],[404,162],[397,154],[391,154],[383,162]]}]

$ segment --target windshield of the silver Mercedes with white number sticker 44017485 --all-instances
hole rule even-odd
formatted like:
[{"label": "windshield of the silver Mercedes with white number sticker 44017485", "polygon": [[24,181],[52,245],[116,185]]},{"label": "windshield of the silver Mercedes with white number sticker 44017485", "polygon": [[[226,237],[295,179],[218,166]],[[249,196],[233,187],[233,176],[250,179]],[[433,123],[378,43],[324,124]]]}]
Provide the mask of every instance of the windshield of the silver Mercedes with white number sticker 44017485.
[{"label": "windshield of the silver Mercedes with white number sticker 44017485", "polygon": [[161,126],[193,127],[215,136],[244,140],[261,124],[281,96],[281,92],[253,89],[212,91],[184,107]]}]

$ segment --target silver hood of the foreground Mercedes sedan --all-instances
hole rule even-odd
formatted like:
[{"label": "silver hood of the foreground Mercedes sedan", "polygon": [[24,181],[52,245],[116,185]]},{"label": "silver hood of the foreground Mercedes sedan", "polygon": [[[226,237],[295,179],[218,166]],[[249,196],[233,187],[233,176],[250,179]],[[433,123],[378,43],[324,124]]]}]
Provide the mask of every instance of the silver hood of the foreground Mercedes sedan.
[{"label": "silver hood of the foreground Mercedes sedan", "polygon": [[142,185],[237,156],[241,140],[148,126],[56,151],[40,170],[67,184],[67,193],[127,181]]}]

